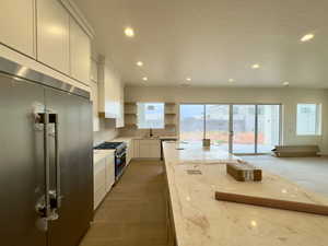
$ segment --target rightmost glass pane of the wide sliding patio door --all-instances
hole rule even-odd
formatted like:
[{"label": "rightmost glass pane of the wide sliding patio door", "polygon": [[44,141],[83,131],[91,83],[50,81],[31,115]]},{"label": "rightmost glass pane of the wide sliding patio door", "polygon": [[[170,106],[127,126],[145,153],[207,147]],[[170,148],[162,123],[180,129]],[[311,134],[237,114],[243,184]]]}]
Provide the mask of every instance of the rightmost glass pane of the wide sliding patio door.
[{"label": "rightmost glass pane of the wide sliding patio door", "polygon": [[279,144],[280,105],[258,105],[257,152],[269,153]]}]

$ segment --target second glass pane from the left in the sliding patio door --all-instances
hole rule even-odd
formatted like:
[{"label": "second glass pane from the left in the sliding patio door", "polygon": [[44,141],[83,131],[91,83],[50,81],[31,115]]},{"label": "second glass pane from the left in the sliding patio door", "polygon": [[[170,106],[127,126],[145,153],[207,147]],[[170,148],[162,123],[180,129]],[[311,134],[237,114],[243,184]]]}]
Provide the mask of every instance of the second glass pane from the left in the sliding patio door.
[{"label": "second glass pane from the left in the sliding patio door", "polygon": [[229,105],[206,105],[206,138],[229,151]]}]

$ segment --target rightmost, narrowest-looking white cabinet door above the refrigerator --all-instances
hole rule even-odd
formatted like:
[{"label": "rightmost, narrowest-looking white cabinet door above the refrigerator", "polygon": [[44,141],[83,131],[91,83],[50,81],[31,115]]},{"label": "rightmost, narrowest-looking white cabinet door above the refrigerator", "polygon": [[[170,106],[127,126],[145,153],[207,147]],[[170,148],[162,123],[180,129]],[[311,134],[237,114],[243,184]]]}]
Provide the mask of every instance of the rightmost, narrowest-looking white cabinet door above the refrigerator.
[{"label": "rightmost, narrowest-looking white cabinet door above the refrigerator", "polygon": [[91,47],[89,36],[74,19],[70,17],[71,77],[85,84],[90,83],[90,58]]}]

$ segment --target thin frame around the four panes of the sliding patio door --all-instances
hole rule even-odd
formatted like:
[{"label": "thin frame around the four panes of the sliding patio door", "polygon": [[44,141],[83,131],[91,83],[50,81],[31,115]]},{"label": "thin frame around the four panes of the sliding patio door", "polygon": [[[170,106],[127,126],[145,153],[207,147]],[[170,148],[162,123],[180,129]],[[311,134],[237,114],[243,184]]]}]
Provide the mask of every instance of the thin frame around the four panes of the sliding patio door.
[{"label": "thin frame around the four panes of the sliding patio door", "polygon": [[[203,117],[203,136],[206,136],[206,106],[207,105],[227,105],[229,106],[229,153],[235,155],[266,155],[268,153],[258,153],[258,106],[260,105],[277,105],[279,106],[279,136],[278,143],[282,141],[282,104],[281,103],[183,103],[178,104],[178,134],[180,136],[180,106],[181,105],[202,105],[204,106],[204,117]],[[233,153],[233,106],[234,105],[255,105],[255,150],[254,153]]]}]

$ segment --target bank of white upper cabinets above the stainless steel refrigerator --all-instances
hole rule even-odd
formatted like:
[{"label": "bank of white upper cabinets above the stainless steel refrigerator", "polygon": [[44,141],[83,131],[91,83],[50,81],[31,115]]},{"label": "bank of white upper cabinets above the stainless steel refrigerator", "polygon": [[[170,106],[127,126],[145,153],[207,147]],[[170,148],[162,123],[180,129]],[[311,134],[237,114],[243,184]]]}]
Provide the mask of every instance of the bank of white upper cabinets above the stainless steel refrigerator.
[{"label": "bank of white upper cabinets above the stainless steel refrigerator", "polygon": [[0,46],[16,55],[10,59],[24,63],[19,56],[25,55],[25,63],[33,61],[38,71],[51,71],[84,90],[90,86],[93,37],[93,28],[73,1],[1,0]]}]

